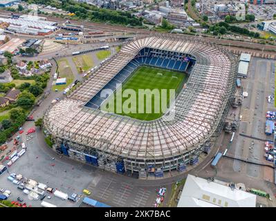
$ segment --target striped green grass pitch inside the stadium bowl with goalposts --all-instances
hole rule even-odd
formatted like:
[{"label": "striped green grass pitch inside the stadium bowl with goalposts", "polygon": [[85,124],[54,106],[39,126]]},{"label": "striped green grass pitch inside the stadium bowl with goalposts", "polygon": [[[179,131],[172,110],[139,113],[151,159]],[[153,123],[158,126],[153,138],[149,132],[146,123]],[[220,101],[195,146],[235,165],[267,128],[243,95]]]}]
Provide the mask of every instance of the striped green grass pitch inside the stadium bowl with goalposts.
[{"label": "striped green grass pitch inside the stadium bowl with goalposts", "polygon": [[[156,89],[155,92],[161,94],[161,89],[167,89],[167,95],[165,93],[165,99],[163,99],[163,101],[165,100],[166,105],[169,106],[169,89],[174,89],[177,95],[183,88],[185,81],[187,81],[187,75],[183,72],[153,68],[150,66],[140,66],[122,84],[122,89],[117,90],[116,93],[113,93],[113,95],[102,104],[101,110],[147,121],[157,119],[164,114],[161,111],[160,97],[150,96],[151,99],[142,100],[140,99],[141,96],[139,96],[138,90],[149,89],[152,91]],[[127,93],[127,91],[129,91],[127,89],[132,89],[132,92],[135,92],[135,94],[131,93],[125,95],[127,96],[125,97],[124,92]],[[121,101],[120,94],[122,94]],[[156,105],[155,99],[158,99],[160,105]],[[157,106],[159,106],[159,108],[156,108]]]}]

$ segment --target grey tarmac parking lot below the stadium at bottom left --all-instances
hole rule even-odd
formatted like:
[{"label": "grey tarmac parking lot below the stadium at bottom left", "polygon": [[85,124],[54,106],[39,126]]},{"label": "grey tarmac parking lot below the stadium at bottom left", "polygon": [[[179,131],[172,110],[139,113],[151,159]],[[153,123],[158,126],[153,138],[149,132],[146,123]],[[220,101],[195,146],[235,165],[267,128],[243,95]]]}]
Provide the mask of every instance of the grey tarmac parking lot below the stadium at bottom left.
[{"label": "grey tarmac parking lot below the stadium at bottom left", "polygon": [[[22,135],[22,140],[26,140]],[[7,179],[10,173],[23,175],[24,177],[46,184],[54,190],[67,193],[77,193],[77,202],[62,200],[46,193],[44,201],[56,206],[80,206],[84,194],[83,189],[91,191],[89,198],[108,204],[109,206],[153,206],[156,200],[156,188],[158,185],[147,186],[147,183],[136,185],[136,179],[117,175],[108,171],[102,171],[88,164],[60,158],[48,146],[45,146],[42,132],[33,133],[33,137],[26,141],[27,151],[17,160],[8,171],[0,175],[0,189],[8,189],[12,193],[8,200],[17,200],[18,197],[26,202],[27,206],[41,206],[41,200],[32,200],[28,195],[17,189],[16,184],[12,184]],[[55,159],[53,160],[53,157]],[[7,163],[6,161],[5,163]],[[4,163],[4,164],[5,164]],[[139,186],[140,185],[140,186]],[[163,186],[165,187],[165,186]],[[51,196],[48,199],[48,195]],[[165,198],[169,195],[165,196]]]}]

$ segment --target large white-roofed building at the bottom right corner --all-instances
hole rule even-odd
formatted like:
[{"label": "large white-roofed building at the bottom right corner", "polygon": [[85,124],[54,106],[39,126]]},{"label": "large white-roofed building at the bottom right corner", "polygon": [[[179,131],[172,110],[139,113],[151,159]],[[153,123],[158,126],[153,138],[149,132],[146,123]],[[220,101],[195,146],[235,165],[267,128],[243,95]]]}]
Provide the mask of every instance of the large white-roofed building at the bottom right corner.
[{"label": "large white-roofed building at the bottom right corner", "polygon": [[255,207],[256,195],[188,175],[177,207]]}]

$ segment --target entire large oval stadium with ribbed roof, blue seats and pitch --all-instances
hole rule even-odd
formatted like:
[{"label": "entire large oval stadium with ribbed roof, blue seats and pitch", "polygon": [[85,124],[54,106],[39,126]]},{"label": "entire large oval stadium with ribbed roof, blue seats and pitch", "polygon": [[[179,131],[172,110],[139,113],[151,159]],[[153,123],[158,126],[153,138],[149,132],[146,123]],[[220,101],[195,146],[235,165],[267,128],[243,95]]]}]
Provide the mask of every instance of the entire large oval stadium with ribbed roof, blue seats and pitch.
[{"label": "entire large oval stadium with ribbed roof, blue seats and pitch", "polygon": [[[210,141],[223,128],[235,79],[237,58],[219,46],[180,35],[136,38],[50,106],[44,128],[58,153],[117,173],[163,177],[198,164],[199,155],[210,151]],[[102,111],[109,99],[102,90],[115,93],[119,84],[174,88],[174,106],[147,116]]]}]

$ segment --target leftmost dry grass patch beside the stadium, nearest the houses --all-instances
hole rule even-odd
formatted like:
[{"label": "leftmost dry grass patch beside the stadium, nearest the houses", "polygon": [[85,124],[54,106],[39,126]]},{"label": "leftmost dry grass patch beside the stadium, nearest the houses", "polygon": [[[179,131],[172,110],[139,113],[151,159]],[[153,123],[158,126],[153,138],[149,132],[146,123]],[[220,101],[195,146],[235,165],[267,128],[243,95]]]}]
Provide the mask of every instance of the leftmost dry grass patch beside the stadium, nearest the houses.
[{"label": "leftmost dry grass patch beside the stadium, nearest the houses", "polygon": [[68,64],[67,59],[59,59],[57,61],[57,64],[58,64],[59,78],[66,77],[66,84],[53,85],[52,89],[64,90],[69,84],[73,82],[74,76]]}]

